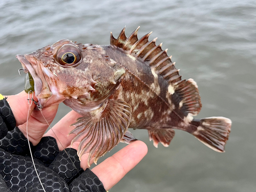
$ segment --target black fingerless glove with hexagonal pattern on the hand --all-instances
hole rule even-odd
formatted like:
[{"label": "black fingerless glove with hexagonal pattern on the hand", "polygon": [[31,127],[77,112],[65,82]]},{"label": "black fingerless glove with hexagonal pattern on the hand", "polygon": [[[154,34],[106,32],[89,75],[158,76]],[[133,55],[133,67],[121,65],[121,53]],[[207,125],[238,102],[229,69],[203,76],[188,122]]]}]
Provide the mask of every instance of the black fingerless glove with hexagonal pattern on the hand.
[{"label": "black fingerless glove with hexagonal pattern on the hand", "polygon": [[[16,121],[6,99],[0,100],[0,191],[44,191],[30,157],[28,140],[15,127]],[[53,137],[30,143],[39,178],[48,192],[105,191],[89,168],[83,171],[76,150],[59,151]]]}]

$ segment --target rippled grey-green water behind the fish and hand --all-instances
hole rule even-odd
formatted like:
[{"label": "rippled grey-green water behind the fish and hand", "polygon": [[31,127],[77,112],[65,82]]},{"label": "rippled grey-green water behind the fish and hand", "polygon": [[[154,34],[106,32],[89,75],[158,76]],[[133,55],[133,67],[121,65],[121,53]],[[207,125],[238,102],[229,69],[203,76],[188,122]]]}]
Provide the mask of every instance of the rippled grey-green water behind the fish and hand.
[{"label": "rippled grey-green water behind the fish and hand", "polygon": [[[146,157],[110,191],[256,191],[256,3],[255,1],[0,1],[0,93],[24,89],[16,54],[61,38],[110,44],[126,25],[153,31],[183,78],[199,87],[199,118],[225,116],[232,129],[223,154],[176,131],[168,148],[131,130],[148,146]],[[70,111],[61,104],[56,123]],[[100,161],[120,150],[119,144]]]}]

